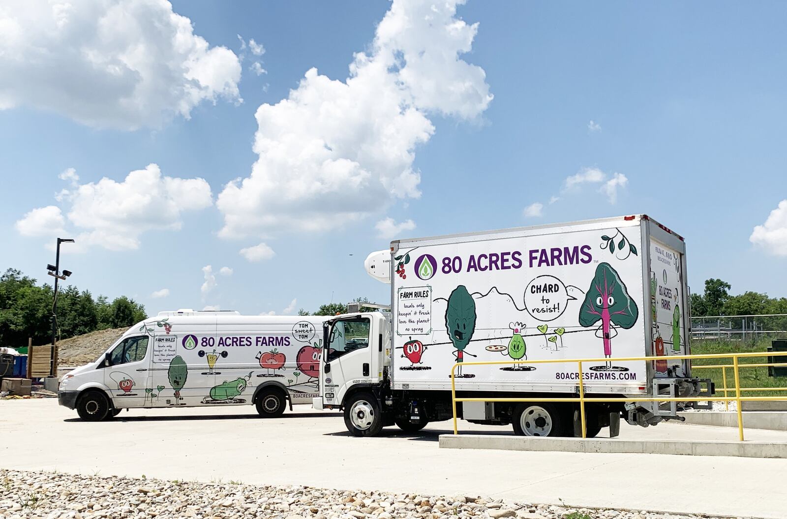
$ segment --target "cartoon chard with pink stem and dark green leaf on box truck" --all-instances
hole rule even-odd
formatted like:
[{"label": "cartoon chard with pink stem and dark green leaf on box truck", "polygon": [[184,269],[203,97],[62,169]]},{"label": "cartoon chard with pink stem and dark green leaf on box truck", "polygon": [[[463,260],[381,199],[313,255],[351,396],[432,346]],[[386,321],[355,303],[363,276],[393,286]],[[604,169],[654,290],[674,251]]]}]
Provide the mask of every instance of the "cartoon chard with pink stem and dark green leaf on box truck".
[{"label": "cartoon chard with pink stem and dark green leaf on box truck", "polygon": [[[596,336],[604,339],[604,357],[612,356],[612,337],[618,335],[616,328],[629,329],[634,326],[639,317],[637,303],[629,297],[626,285],[620,279],[618,272],[608,263],[600,263],[596,269],[596,276],[579,309],[579,324],[589,328],[601,321],[596,330]],[[591,368],[594,369],[594,368]],[[594,370],[628,371],[626,368],[612,367],[607,361],[604,367]]]}]

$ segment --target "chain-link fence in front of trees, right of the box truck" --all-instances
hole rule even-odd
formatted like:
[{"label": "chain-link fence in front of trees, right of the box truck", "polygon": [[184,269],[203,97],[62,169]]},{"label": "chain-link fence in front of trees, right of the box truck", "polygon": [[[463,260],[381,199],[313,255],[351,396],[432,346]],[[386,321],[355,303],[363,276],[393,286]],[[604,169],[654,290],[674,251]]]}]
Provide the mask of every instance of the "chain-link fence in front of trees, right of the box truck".
[{"label": "chain-link fence in front of trees, right of the box truck", "polygon": [[693,340],[757,343],[763,339],[787,339],[787,313],[692,317]]}]

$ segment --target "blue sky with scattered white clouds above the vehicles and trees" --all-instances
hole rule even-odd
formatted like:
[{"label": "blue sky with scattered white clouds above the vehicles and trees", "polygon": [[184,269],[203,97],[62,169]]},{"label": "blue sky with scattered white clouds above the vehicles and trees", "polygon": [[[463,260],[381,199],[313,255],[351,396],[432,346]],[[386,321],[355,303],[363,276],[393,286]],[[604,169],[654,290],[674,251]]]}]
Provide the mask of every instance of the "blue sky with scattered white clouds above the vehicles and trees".
[{"label": "blue sky with scattered white clouds above the vehicles and trees", "polygon": [[[22,29],[0,36],[2,269],[43,280],[59,227],[83,236],[61,263],[94,295],[129,295],[150,313],[284,313],[386,302],[363,260],[392,238],[648,213],[685,237],[693,291],[720,277],[736,293],[787,295],[783,2],[470,0],[429,30],[397,24],[429,16],[398,1],[84,3],[94,16],[67,13],[72,30],[57,36],[44,34],[58,20],[48,7],[0,13],[0,26]],[[183,20],[170,9],[193,26],[176,29],[195,42],[185,57],[156,33]],[[454,41],[445,28],[456,20],[466,25]],[[129,58],[137,40],[157,46]],[[389,72],[331,83],[347,80],[355,53]],[[437,58],[419,66],[421,55]],[[312,68],[327,77],[294,98]],[[129,95],[140,78],[153,87]],[[198,94],[178,93],[197,83]],[[390,95],[412,117],[386,109]],[[315,138],[324,146],[301,157]],[[135,205],[133,182],[96,187],[151,164],[163,206]],[[224,192],[250,176],[256,187]]]}]

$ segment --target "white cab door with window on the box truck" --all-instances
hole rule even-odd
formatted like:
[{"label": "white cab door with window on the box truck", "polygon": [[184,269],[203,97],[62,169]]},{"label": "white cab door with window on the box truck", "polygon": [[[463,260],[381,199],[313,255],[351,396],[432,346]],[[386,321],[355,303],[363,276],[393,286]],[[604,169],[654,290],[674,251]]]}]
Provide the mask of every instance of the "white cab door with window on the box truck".
[{"label": "white cab door with window on the box truck", "polygon": [[342,403],[349,387],[375,383],[371,342],[371,318],[367,315],[342,317],[328,324],[323,358],[323,404]]}]

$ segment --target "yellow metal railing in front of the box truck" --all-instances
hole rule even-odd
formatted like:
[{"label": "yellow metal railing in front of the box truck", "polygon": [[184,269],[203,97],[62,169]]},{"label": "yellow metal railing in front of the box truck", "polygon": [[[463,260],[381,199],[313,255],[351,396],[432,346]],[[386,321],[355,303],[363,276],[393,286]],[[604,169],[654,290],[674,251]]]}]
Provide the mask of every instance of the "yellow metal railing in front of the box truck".
[{"label": "yellow metal railing in front of the box truck", "polygon": [[[737,402],[737,427],[738,427],[738,437],[741,441],[744,440],[743,436],[743,416],[741,415],[741,402],[767,402],[767,401],[787,401],[787,395],[785,396],[742,396],[741,391],[763,391],[761,388],[752,388],[752,387],[744,387],[741,388],[741,378],[740,378],[740,369],[741,368],[750,368],[750,367],[762,367],[767,365],[787,365],[787,363],[777,364],[777,363],[761,363],[761,364],[739,364],[739,358],[750,358],[750,357],[785,357],[787,356],[787,352],[752,352],[752,353],[727,353],[727,354],[696,354],[696,355],[667,355],[662,357],[625,357],[625,358],[571,358],[571,359],[543,359],[543,360],[533,360],[533,361],[474,361],[474,362],[462,362],[456,363],[451,367],[451,400],[453,405],[453,433],[459,434],[459,430],[456,427],[456,402],[575,402],[579,404],[579,415],[582,421],[582,438],[587,437],[587,428],[586,428],[586,418],[585,418],[585,403],[586,402],[727,402],[727,406],[729,408],[729,403],[731,401]],[[582,364],[583,363],[598,363],[598,362],[608,362],[608,361],[646,361],[646,362],[654,362],[659,360],[667,360],[667,361],[676,361],[676,360],[696,360],[696,359],[715,359],[715,358],[724,358],[729,359],[731,358],[733,363],[731,365],[701,365],[701,366],[692,366],[692,369],[711,369],[711,368],[719,368],[723,367],[722,373],[724,373],[724,396],[717,397],[717,396],[705,396],[705,397],[621,397],[621,398],[586,398],[585,396],[585,380],[584,374],[582,373]],[[563,364],[563,363],[576,363],[577,371],[578,371],[578,393],[579,395],[576,397],[555,397],[555,398],[541,398],[541,397],[534,397],[534,398],[522,398],[522,399],[515,399],[515,398],[456,398],[456,368],[458,366],[471,366],[471,365],[512,365],[512,364]],[[730,367],[733,369],[733,375],[735,380],[735,387],[732,389],[728,389],[726,387],[726,368]],[[787,391],[787,388],[773,388],[773,391],[778,391],[779,389],[784,389]],[[735,391],[735,397],[731,399],[727,396],[727,393],[730,391]]]}]

